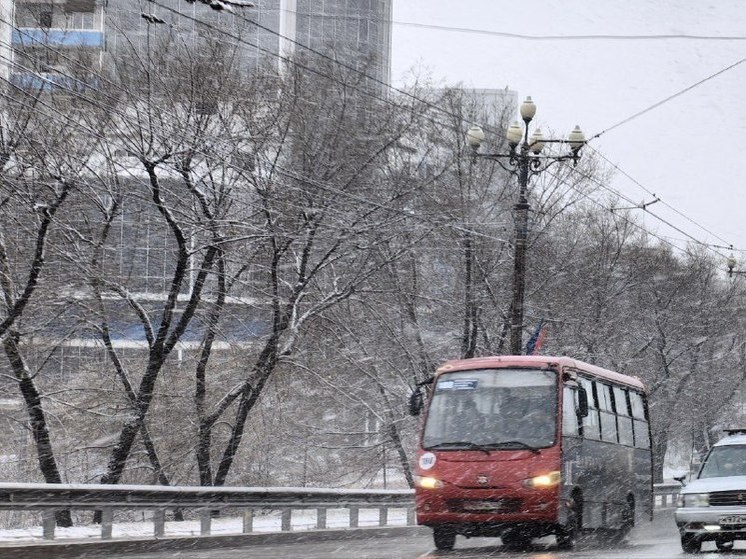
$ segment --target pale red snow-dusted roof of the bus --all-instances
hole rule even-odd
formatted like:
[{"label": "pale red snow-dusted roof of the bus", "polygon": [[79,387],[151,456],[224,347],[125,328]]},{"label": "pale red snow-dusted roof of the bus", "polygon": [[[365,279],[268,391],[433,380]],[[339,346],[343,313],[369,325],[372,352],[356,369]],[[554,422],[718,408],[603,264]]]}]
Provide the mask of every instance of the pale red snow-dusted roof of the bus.
[{"label": "pale red snow-dusted roof of the bus", "polygon": [[594,377],[606,379],[619,384],[625,384],[640,391],[645,391],[645,386],[640,379],[629,375],[623,375],[609,369],[597,367],[590,363],[584,363],[570,357],[553,357],[551,355],[497,355],[492,357],[474,357],[472,359],[454,359],[446,361],[438,367],[437,374],[449,371],[466,371],[469,369],[490,369],[496,367],[560,367],[562,369],[575,369],[586,372]]}]

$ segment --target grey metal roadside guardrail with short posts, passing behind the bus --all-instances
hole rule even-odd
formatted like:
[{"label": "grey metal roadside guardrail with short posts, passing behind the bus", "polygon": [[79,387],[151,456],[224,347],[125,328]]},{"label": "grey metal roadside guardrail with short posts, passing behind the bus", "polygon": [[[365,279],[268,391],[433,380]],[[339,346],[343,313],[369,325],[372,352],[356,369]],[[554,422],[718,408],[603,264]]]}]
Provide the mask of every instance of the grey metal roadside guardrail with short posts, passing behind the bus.
[{"label": "grey metal roadside guardrail with short posts, passing behind the bus", "polygon": [[[654,486],[656,509],[673,508],[681,486],[660,483]],[[327,528],[329,509],[349,509],[349,528],[359,527],[360,509],[379,511],[379,526],[388,524],[390,508],[406,509],[407,525],[415,523],[414,492],[409,489],[322,489],[284,487],[177,487],[153,485],[74,485],[0,483],[0,510],[42,512],[42,534],[54,539],[55,516],[61,509],[100,510],[101,539],[112,536],[114,510],[153,511],[154,536],[165,534],[167,509],[196,509],[200,535],[211,532],[213,511],[244,509],[243,533],[253,532],[255,510],[280,510],[281,531],[290,531],[293,510],[316,509],[316,529]]]}]

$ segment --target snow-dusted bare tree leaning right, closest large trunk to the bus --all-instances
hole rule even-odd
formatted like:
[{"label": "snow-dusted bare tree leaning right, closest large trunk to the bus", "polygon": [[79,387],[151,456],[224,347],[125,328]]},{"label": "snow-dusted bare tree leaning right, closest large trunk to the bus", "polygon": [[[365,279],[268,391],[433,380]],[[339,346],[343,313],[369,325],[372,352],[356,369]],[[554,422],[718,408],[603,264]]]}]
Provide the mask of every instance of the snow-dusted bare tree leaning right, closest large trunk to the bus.
[{"label": "snow-dusted bare tree leaning right, closest large trunk to the bus", "polygon": [[[412,195],[406,187],[383,183],[377,169],[414,125],[418,111],[366,99],[358,72],[332,64],[316,74],[302,68],[284,76],[283,110],[276,113],[272,143],[253,150],[256,168],[250,181],[262,233],[251,251],[261,270],[253,286],[267,305],[267,333],[248,374],[209,411],[204,388],[198,388],[204,410],[203,483],[210,478],[213,485],[225,483],[251,410],[304,329],[386,265],[377,247],[400,230],[405,218],[400,202]],[[199,373],[198,387],[202,379]],[[230,410],[232,427],[223,451],[214,470],[205,471],[212,428]]]}]

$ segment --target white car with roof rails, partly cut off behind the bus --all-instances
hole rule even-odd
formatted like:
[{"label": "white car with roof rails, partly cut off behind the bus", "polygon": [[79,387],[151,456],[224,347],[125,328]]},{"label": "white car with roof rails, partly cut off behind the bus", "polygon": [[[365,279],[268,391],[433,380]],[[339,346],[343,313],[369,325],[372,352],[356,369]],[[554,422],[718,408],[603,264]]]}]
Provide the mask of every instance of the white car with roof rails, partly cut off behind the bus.
[{"label": "white car with roof rails, partly cut off behind the bus", "polygon": [[726,433],[679,494],[674,516],[687,553],[699,552],[704,541],[725,551],[746,540],[746,429]]}]

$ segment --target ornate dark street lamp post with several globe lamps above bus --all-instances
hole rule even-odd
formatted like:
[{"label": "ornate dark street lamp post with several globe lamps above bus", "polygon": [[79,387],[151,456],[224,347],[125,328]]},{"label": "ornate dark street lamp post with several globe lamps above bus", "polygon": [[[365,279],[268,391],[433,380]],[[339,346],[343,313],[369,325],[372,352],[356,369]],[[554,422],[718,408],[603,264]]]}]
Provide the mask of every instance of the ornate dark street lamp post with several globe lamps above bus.
[{"label": "ornate dark street lamp post with several globe lamps above bus", "polygon": [[[510,153],[479,153],[484,141],[484,131],[479,126],[471,126],[466,132],[466,141],[472,147],[475,157],[496,161],[503,169],[518,177],[518,202],[515,205],[515,246],[513,255],[513,300],[510,317],[510,351],[513,355],[522,353],[523,339],[523,298],[526,285],[526,241],[528,239],[528,181],[531,175],[538,175],[550,165],[559,161],[572,160],[577,165],[580,148],[585,145],[585,135],[579,126],[570,132],[567,140],[547,140],[538,128],[529,136],[528,125],[536,114],[536,105],[531,97],[520,106],[524,126],[514,122],[508,127],[506,138]],[[570,146],[565,155],[541,155],[547,143],[563,143]],[[507,165],[503,163],[507,161]]]}]

